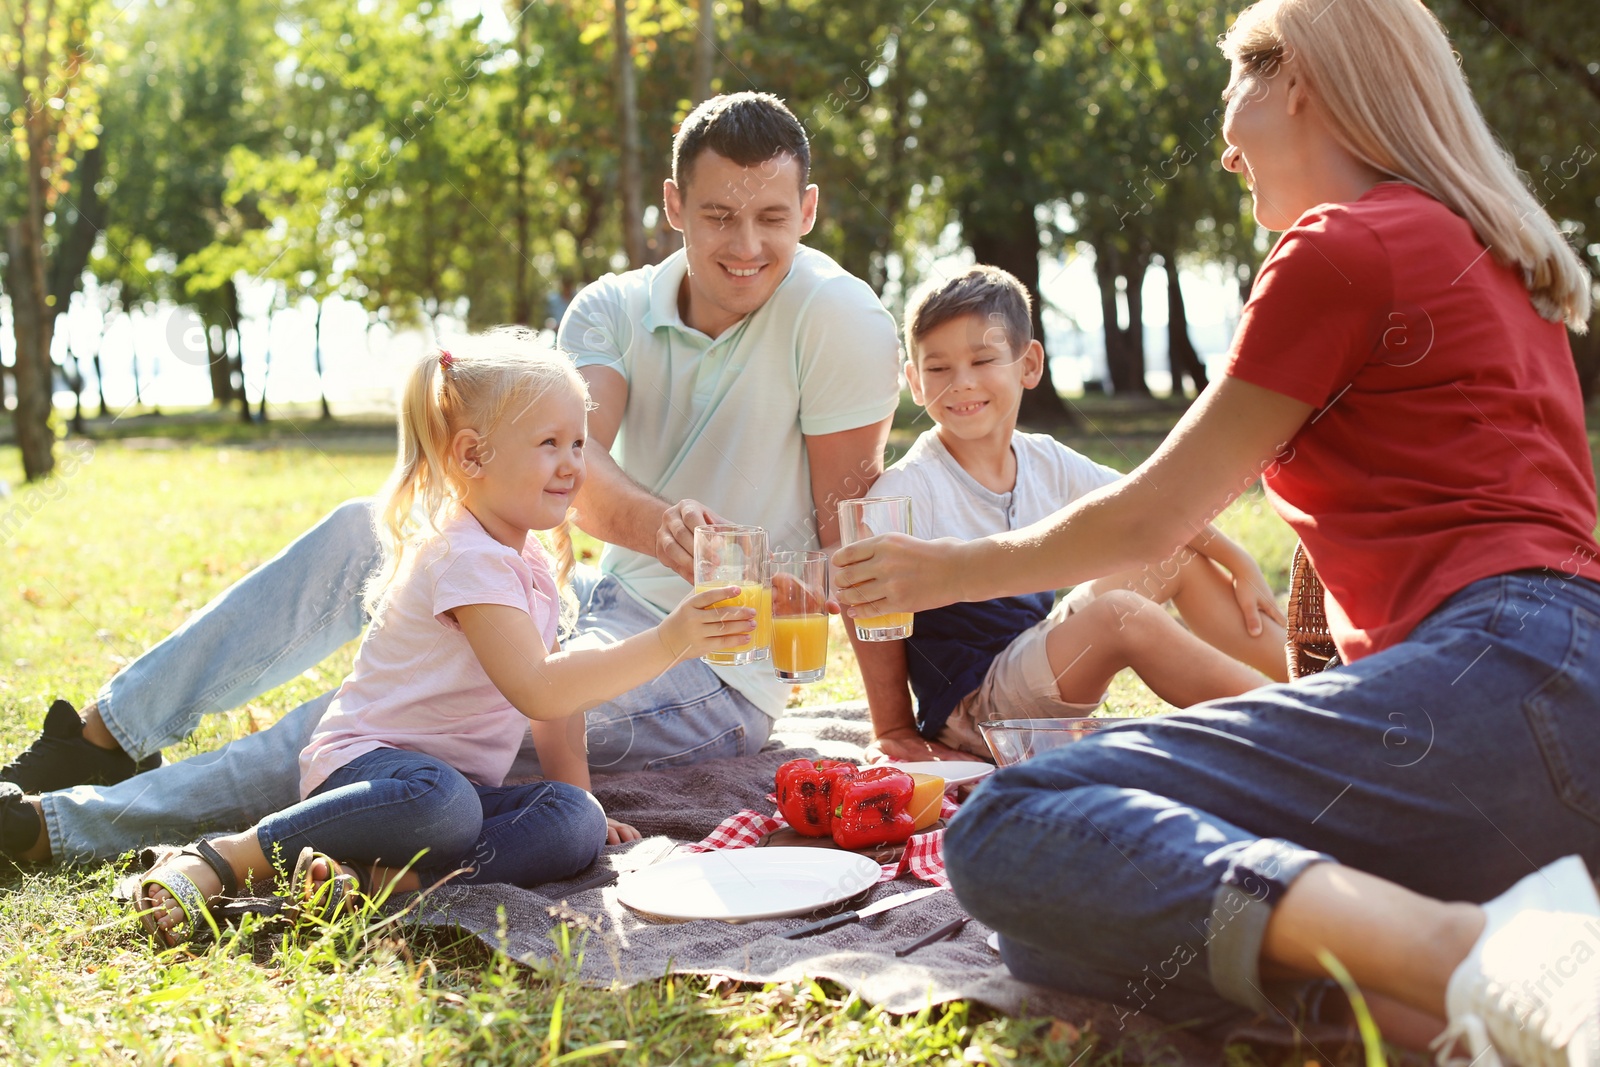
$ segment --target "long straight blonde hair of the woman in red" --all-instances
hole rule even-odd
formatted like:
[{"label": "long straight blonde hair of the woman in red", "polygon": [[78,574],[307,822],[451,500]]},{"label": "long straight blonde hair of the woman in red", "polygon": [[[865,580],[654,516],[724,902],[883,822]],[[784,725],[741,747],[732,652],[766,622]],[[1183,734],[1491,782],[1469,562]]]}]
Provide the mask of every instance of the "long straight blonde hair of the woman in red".
[{"label": "long straight blonde hair of the woman in red", "polygon": [[1349,152],[1464,218],[1496,261],[1522,272],[1539,315],[1584,331],[1589,274],[1490,133],[1421,0],[1261,0],[1221,46],[1251,72],[1299,64]]}]

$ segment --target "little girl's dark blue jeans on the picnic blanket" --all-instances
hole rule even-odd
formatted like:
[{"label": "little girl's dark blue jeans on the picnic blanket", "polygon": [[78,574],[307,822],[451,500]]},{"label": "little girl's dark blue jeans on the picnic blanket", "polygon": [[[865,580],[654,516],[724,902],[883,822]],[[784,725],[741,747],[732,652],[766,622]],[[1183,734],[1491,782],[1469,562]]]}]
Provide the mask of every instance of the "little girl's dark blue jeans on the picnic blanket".
[{"label": "little girl's dark blue jeans on the picnic blanket", "polygon": [[605,811],[576,785],[474,785],[443,760],[402,749],[355,757],[256,824],[261,851],[280,870],[310,846],[386,867],[416,861],[422,885],[456,870],[466,883],[568,878],[595,861],[605,833]]}]

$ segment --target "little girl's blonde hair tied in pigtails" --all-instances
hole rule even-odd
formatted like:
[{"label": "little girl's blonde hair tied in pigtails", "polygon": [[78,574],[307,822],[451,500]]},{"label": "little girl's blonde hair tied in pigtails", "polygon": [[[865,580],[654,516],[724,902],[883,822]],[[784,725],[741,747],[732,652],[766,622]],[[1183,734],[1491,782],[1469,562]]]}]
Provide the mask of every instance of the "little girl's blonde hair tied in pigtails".
[{"label": "little girl's blonde hair tied in pigtails", "polygon": [[[384,555],[363,595],[374,619],[419,542],[440,534],[445,515],[464,494],[466,482],[451,461],[450,442],[462,429],[493,442],[501,419],[555,389],[570,389],[589,405],[589,389],[571,358],[523,326],[496,326],[459,338],[411,368],[400,398],[395,469],[378,493],[373,517]],[[562,616],[568,621],[576,603],[566,592],[574,560],[565,522],[550,531],[550,542],[558,560]]]}]

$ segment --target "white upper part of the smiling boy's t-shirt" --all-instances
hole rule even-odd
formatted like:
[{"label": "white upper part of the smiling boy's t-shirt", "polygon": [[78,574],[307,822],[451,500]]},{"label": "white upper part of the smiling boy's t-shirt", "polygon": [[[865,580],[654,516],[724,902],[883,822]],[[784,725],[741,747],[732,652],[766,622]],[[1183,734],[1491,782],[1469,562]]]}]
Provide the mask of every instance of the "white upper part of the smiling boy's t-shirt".
[{"label": "white upper part of the smiling boy's t-shirt", "polygon": [[918,537],[971,541],[1029,526],[1122,475],[1082,456],[1050,434],[1011,435],[1016,486],[995,493],[955,462],[926,430],[883,472],[867,496],[909,496],[912,533]]}]

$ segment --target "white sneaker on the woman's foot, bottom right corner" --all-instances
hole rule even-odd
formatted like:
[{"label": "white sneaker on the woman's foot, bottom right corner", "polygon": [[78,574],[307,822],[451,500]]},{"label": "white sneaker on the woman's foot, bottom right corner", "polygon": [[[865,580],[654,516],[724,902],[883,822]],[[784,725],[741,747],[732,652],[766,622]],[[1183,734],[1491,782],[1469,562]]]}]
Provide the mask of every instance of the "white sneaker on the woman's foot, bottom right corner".
[{"label": "white sneaker on the woman's foot, bottom right corner", "polygon": [[1600,1067],[1600,897],[1578,856],[1483,905],[1488,921],[1450,976],[1440,1064]]}]

